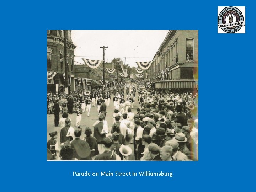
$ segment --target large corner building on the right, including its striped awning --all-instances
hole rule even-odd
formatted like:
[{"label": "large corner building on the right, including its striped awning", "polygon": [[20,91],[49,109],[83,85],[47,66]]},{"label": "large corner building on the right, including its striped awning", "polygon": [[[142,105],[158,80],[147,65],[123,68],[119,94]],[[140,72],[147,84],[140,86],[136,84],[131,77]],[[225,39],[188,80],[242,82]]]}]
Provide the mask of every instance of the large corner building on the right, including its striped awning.
[{"label": "large corner building on the right, including its striped awning", "polygon": [[157,89],[198,91],[198,30],[170,30],[147,73]]}]

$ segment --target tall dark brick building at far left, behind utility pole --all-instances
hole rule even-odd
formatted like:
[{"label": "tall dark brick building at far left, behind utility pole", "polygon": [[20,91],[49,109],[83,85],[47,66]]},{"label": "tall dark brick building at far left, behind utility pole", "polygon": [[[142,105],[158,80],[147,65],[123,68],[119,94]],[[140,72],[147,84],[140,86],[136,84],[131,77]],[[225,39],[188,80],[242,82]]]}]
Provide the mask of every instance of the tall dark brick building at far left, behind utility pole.
[{"label": "tall dark brick building at far left, behind utility pole", "polygon": [[67,30],[68,75],[64,63],[64,30],[47,30],[47,92],[64,92],[65,78],[68,78],[68,90],[75,90],[74,49],[71,30]]}]

